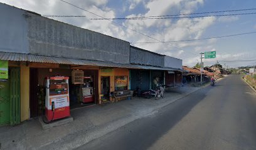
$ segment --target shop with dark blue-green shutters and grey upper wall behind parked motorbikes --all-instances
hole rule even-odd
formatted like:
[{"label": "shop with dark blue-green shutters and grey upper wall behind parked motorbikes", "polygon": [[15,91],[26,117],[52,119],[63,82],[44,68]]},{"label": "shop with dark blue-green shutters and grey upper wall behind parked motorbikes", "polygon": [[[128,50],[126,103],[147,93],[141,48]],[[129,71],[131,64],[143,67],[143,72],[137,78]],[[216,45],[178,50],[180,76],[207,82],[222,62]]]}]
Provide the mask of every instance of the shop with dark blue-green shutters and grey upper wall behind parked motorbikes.
[{"label": "shop with dark blue-green shutters and grey upper wall behind parked motorbikes", "polygon": [[131,64],[142,70],[131,71],[131,89],[156,89],[158,85],[182,86],[182,60],[131,46]]}]

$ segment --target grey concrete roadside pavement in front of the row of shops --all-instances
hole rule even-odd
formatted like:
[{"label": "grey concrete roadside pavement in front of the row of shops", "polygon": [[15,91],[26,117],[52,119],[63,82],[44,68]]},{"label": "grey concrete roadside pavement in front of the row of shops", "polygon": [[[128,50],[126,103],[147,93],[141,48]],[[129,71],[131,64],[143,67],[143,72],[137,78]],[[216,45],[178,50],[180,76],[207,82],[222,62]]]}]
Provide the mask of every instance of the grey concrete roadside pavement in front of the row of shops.
[{"label": "grey concrete roadside pavement in front of the row of shops", "polygon": [[118,103],[73,109],[74,121],[43,130],[38,119],[0,127],[0,149],[73,149],[195,92],[198,87],[169,89],[164,98],[133,98]]}]

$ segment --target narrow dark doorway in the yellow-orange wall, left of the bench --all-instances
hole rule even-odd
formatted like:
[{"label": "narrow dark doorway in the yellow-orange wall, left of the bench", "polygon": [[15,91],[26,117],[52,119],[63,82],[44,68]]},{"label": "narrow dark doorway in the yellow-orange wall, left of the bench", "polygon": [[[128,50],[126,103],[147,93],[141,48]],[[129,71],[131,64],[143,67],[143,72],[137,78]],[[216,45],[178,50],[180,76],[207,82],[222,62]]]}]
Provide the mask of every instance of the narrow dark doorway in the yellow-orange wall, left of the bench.
[{"label": "narrow dark doorway in the yellow-orange wall, left of the bench", "polygon": [[100,91],[102,101],[110,101],[110,76],[102,76],[100,78]]}]

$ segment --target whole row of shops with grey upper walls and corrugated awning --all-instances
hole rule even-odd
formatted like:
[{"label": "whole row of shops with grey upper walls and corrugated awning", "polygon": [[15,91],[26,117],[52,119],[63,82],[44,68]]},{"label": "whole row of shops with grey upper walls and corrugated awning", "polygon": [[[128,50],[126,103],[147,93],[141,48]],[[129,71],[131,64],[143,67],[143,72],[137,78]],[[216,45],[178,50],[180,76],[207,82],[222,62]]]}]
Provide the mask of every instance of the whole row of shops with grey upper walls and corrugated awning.
[{"label": "whole row of shops with grey upper walls and corrugated awning", "polygon": [[127,41],[6,4],[0,7],[9,17],[0,28],[8,31],[0,37],[0,60],[8,62],[9,73],[7,79],[0,78],[0,124],[19,124],[44,114],[46,91],[60,91],[46,86],[47,77],[68,78],[64,88],[72,109],[113,102],[114,92],[137,86],[154,89],[165,84],[164,71],[173,70],[166,66],[173,63],[166,56]]}]

